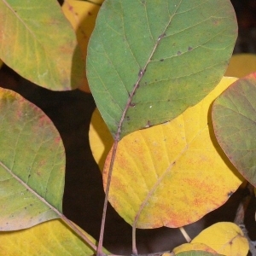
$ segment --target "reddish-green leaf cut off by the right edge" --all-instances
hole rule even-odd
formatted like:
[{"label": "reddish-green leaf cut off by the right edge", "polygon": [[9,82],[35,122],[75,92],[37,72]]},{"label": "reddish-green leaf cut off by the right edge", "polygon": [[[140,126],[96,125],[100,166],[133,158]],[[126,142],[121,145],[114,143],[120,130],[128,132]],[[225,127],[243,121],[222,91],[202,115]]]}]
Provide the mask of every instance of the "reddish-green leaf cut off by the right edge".
[{"label": "reddish-green leaf cut off by the right edge", "polygon": [[237,170],[256,186],[256,73],[237,80],[212,107],[215,136]]}]

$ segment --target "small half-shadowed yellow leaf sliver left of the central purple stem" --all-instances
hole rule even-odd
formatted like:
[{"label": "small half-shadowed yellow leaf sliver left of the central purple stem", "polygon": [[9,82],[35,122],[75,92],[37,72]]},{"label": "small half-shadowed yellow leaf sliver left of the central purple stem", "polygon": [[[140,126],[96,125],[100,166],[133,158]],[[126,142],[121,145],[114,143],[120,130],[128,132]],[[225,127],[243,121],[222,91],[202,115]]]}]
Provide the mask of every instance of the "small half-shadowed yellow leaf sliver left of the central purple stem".
[{"label": "small half-shadowed yellow leaf sliver left of the central purple stem", "polygon": [[113,137],[97,108],[91,116],[89,140],[91,153],[102,171],[108,152],[113,145]]}]

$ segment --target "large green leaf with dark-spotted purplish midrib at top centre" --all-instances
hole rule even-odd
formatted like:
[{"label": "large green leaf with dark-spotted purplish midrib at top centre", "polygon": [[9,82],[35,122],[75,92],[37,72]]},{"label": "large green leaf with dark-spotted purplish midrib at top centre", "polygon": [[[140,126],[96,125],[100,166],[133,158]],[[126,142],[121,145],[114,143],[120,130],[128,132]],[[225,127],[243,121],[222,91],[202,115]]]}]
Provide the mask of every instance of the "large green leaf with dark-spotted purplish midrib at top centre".
[{"label": "large green leaf with dark-spotted purplish midrib at top centre", "polygon": [[105,1],[87,77],[113,136],[173,119],[199,102],[222,78],[236,33],[228,0]]}]

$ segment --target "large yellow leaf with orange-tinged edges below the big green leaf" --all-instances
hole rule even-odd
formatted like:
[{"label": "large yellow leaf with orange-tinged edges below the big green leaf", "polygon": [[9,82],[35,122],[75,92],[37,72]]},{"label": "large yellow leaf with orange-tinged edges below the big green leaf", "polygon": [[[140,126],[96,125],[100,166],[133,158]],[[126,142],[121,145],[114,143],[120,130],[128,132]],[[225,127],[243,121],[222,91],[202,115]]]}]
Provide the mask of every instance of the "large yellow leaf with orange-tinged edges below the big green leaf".
[{"label": "large yellow leaf with orange-tinged edges below the big green leaf", "polygon": [[[212,101],[235,80],[224,78],[176,119],[119,142],[108,200],[126,222],[141,229],[190,224],[238,188],[242,177],[219,147],[209,114]],[[104,188],[110,160],[111,152]]]}]

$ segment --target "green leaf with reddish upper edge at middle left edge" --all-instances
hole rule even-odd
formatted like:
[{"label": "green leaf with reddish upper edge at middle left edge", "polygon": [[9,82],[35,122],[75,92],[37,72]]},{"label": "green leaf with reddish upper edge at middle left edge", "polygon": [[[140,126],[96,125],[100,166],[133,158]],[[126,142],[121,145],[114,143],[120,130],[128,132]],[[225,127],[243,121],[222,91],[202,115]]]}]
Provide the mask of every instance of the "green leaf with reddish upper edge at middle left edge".
[{"label": "green leaf with reddish upper edge at middle left edge", "polygon": [[3,88],[0,145],[0,230],[59,218],[65,173],[61,137],[42,110]]}]

